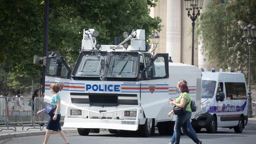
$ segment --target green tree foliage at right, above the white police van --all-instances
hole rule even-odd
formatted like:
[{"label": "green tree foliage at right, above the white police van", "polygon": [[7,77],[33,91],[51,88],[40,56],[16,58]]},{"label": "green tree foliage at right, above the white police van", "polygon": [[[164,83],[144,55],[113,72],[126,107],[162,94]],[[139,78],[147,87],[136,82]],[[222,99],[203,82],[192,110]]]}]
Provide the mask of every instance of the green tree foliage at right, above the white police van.
[{"label": "green tree foliage at right, above the white police van", "polygon": [[[203,53],[210,62],[218,60],[218,67],[234,69],[247,74],[248,44],[242,38],[242,27],[256,24],[256,1],[211,1],[200,16],[199,33],[203,40]],[[255,75],[256,44],[251,45],[252,78]]]}]

